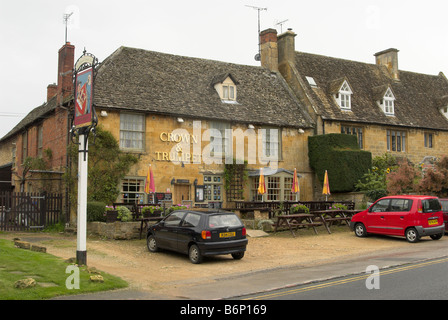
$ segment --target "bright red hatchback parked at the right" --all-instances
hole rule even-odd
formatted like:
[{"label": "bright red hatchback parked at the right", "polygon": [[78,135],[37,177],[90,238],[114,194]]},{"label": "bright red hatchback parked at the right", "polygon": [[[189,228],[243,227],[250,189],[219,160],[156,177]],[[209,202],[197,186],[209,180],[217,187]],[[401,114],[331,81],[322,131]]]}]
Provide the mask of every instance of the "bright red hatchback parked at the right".
[{"label": "bright red hatchback parked at the right", "polygon": [[423,236],[442,238],[445,224],[437,197],[401,195],[381,198],[369,209],[355,214],[350,228],[358,237],[377,233],[417,242]]}]

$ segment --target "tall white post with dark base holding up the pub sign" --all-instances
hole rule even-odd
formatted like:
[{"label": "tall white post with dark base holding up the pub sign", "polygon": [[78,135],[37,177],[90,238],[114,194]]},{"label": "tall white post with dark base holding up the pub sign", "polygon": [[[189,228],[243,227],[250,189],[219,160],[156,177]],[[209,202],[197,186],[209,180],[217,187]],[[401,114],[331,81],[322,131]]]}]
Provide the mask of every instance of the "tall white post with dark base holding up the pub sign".
[{"label": "tall white post with dark base holding up the pub sign", "polygon": [[78,265],[87,265],[87,150],[87,137],[84,134],[80,134],[78,154],[78,242],[76,248]]}]

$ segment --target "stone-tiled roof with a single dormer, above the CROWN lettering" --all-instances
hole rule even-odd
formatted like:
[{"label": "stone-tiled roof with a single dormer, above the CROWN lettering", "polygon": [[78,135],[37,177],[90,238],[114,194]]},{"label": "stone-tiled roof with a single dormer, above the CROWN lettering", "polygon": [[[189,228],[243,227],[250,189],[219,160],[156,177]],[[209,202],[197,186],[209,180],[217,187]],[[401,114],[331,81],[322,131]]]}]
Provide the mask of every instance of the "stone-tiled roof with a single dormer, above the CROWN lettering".
[{"label": "stone-tiled roof with a single dormer, above the CROWN lettering", "polygon": [[[213,87],[229,75],[237,83],[237,104],[223,103]],[[94,104],[199,119],[313,126],[280,74],[129,47],[119,48],[101,64]]]}]

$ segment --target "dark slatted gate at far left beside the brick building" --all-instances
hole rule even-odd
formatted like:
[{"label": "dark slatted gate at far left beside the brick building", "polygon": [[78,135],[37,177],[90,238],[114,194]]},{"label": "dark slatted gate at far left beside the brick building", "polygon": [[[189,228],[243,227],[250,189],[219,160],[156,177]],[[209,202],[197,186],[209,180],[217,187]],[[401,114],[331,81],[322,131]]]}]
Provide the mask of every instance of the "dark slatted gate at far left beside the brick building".
[{"label": "dark slatted gate at far left beside the brick building", "polygon": [[62,195],[57,193],[0,193],[0,231],[39,230],[60,221]]}]

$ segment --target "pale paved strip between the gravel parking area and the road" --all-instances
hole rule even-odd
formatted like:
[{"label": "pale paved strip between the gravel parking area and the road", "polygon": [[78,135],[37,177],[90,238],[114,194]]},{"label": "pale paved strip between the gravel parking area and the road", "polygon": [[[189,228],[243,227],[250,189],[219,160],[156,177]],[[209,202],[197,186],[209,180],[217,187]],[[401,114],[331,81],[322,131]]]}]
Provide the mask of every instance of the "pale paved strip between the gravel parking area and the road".
[{"label": "pale paved strip between the gravel parking area and the road", "polygon": [[59,300],[215,300],[238,299],[248,294],[267,292],[298,284],[328,280],[350,274],[365,273],[367,266],[380,269],[448,256],[446,238],[421,241],[404,248],[375,252],[353,259],[322,265],[290,266],[257,272],[218,277],[210,283],[180,285],[170,295],[132,289],[87,295],[59,297]]}]

